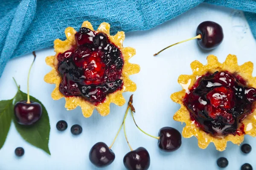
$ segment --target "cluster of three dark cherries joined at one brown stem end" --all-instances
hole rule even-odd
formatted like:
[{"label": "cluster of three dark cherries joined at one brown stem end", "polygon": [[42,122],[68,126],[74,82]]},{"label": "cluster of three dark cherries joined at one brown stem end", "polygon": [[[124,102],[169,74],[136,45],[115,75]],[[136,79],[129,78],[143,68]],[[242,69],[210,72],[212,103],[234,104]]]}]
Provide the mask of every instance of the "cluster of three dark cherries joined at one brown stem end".
[{"label": "cluster of three dark cherries joined at one brown stem end", "polygon": [[[135,109],[132,105],[132,101],[133,101],[132,97],[133,97],[133,95],[131,95],[131,97],[130,97],[128,108],[126,110],[123,123],[120,126],[120,128],[116,134],[116,137],[118,136],[119,131],[121,130],[122,126],[123,126],[124,132],[125,132],[125,118],[127,116],[129,109],[131,109],[131,115],[133,117],[135,125],[143,133],[145,133],[135,122],[135,119],[133,116],[133,112],[135,113]],[[148,133],[145,133],[145,134],[148,136],[151,136]],[[89,159],[95,166],[105,167],[114,161],[115,153],[111,150],[111,147],[113,146],[113,143],[115,142],[116,137],[113,140],[110,147],[108,147],[108,145],[105,144],[104,142],[98,142],[93,145],[93,147],[91,148],[90,153],[89,153]],[[181,134],[178,130],[176,130],[175,128],[172,128],[172,127],[163,127],[159,130],[159,136],[157,136],[157,137],[151,136],[151,137],[158,139],[158,147],[160,148],[160,150],[162,150],[164,152],[175,151],[181,146]],[[150,156],[149,156],[148,151],[144,147],[138,147],[136,150],[132,150],[131,145],[129,144],[129,142],[127,140],[126,133],[125,133],[125,139],[131,149],[131,151],[128,152],[124,156],[124,159],[123,159],[123,163],[124,163],[125,167],[128,170],[147,170],[150,166]]]}]

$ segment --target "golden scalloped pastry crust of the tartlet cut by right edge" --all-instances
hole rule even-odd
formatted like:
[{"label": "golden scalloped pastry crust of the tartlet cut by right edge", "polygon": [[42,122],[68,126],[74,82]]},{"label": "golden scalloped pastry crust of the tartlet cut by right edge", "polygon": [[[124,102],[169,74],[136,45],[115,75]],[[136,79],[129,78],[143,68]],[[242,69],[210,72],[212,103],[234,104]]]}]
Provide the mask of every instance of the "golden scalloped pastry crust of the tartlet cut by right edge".
[{"label": "golden scalloped pastry crust of the tartlet cut by right edge", "polygon": [[[183,105],[183,98],[186,92],[195,84],[198,77],[206,74],[207,72],[214,73],[215,71],[229,71],[230,73],[238,74],[247,81],[247,84],[256,88],[256,77],[252,76],[253,63],[245,62],[243,65],[238,65],[237,57],[229,54],[223,63],[218,62],[218,58],[214,55],[207,57],[207,64],[203,65],[201,62],[195,60],[191,63],[192,75],[180,75],[178,83],[182,86],[183,90],[178,91],[171,95],[171,99],[180,104],[180,109],[175,113],[173,119],[179,122],[186,123],[183,128],[182,136],[184,138],[190,138],[195,136],[198,139],[198,146],[205,149],[210,142],[215,144],[215,147],[219,151],[226,149],[227,142],[231,141],[234,144],[241,144],[244,140],[244,134],[236,135],[229,134],[227,136],[212,136],[209,133],[204,132],[198,127],[194,121],[190,119],[189,111],[186,106]],[[250,115],[247,115],[243,120],[244,132],[247,135],[256,136],[256,110]],[[240,123],[239,127],[242,124]]]}]

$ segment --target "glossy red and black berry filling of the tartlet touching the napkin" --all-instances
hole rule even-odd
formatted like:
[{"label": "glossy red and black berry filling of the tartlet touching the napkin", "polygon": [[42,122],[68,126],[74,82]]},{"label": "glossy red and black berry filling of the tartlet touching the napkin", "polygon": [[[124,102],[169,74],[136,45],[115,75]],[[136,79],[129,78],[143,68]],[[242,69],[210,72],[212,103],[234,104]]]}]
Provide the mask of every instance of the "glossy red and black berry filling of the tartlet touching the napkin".
[{"label": "glossy red and black berry filling of the tartlet touching the napkin", "polygon": [[57,56],[63,77],[59,91],[94,104],[104,102],[107,94],[122,88],[122,54],[104,33],[80,28],[75,37],[76,47]]}]

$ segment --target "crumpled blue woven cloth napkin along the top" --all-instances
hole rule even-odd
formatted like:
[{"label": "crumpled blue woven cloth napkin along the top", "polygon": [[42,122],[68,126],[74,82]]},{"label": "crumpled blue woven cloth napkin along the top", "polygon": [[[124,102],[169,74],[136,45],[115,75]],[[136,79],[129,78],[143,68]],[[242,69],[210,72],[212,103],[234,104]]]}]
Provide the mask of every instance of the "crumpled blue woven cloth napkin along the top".
[{"label": "crumpled blue woven cloth napkin along the top", "polygon": [[111,24],[111,32],[153,28],[202,2],[244,11],[256,37],[255,0],[1,0],[0,76],[9,59],[64,39],[68,26]]}]

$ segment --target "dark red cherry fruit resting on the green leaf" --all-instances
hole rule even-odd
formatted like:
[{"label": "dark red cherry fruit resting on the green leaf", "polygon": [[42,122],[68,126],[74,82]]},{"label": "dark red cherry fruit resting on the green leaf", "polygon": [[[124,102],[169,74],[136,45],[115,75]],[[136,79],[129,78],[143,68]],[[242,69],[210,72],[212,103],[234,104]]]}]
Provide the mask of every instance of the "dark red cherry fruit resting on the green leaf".
[{"label": "dark red cherry fruit resting on the green leaf", "polygon": [[14,114],[20,125],[32,125],[42,115],[42,106],[38,102],[27,101],[17,102],[14,106]]}]

